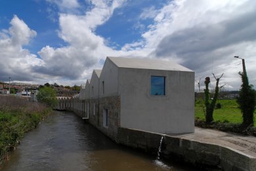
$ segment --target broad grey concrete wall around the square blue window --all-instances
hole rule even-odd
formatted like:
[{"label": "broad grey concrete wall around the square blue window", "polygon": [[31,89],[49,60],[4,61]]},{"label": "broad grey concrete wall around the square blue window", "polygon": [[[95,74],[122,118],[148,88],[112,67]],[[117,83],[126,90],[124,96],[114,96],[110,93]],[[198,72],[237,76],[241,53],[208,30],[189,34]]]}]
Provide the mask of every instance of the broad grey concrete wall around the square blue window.
[{"label": "broad grey concrete wall around the square blue window", "polygon": [[[166,95],[150,95],[151,76],[165,76]],[[119,68],[120,126],[177,134],[194,132],[194,72]]]}]

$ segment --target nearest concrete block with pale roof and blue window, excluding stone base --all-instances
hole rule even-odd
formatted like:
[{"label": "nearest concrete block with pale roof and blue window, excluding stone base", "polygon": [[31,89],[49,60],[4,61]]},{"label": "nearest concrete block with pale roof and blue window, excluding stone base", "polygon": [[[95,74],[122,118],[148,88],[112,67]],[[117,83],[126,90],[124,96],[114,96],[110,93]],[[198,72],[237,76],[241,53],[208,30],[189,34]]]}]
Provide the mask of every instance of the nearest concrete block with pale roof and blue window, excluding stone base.
[{"label": "nearest concrete block with pale roof and blue window, excluding stone base", "polygon": [[194,74],[170,61],[107,57],[99,78],[100,97],[120,96],[120,127],[193,132]]}]

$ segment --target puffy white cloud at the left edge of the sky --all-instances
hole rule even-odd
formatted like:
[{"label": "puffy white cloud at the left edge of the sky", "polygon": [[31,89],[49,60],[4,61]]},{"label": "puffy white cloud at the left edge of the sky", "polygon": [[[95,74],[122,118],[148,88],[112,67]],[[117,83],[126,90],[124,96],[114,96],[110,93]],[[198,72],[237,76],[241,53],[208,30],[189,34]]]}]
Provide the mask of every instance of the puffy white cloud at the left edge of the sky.
[{"label": "puffy white cloud at the left edge of the sky", "polygon": [[0,32],[0,80],[9,76],[16,79],[33,80],[33,66],[41,64],[36,55],[30,54],[24,45],[36,36],[36,32],[28,28],[23,20],[16,15],[10,22],[9,30]]}]

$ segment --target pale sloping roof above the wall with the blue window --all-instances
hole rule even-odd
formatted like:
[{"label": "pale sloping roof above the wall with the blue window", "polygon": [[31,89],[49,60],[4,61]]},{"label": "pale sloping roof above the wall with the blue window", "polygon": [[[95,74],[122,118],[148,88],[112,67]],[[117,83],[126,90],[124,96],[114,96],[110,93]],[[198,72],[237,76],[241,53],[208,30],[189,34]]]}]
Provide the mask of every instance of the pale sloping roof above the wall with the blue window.
[{"label": "pale sloping roof above the wall with the blue window", "polygon": [[120,68],[140,68],[140,69],[151,69],[151,70],[178,70],[178,71],[189,71],[192,70],[177,64],[172,61],[163,61],[158,59],[146,59],[146,58],[124,58],[124,57],[107,57],[117,67]]}]

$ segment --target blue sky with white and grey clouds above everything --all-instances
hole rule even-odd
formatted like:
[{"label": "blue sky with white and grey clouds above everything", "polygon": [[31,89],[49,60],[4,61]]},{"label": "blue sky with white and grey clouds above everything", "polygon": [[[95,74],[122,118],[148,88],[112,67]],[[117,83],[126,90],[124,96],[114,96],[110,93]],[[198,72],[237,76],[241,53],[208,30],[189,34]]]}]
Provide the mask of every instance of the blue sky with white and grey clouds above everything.
[{"label": "blue sky with white and grey clouds above everything", "polygon": [[0,80],[85,84],[107,56],[175,61],[256,85],[256,1],[1,0]]}]

